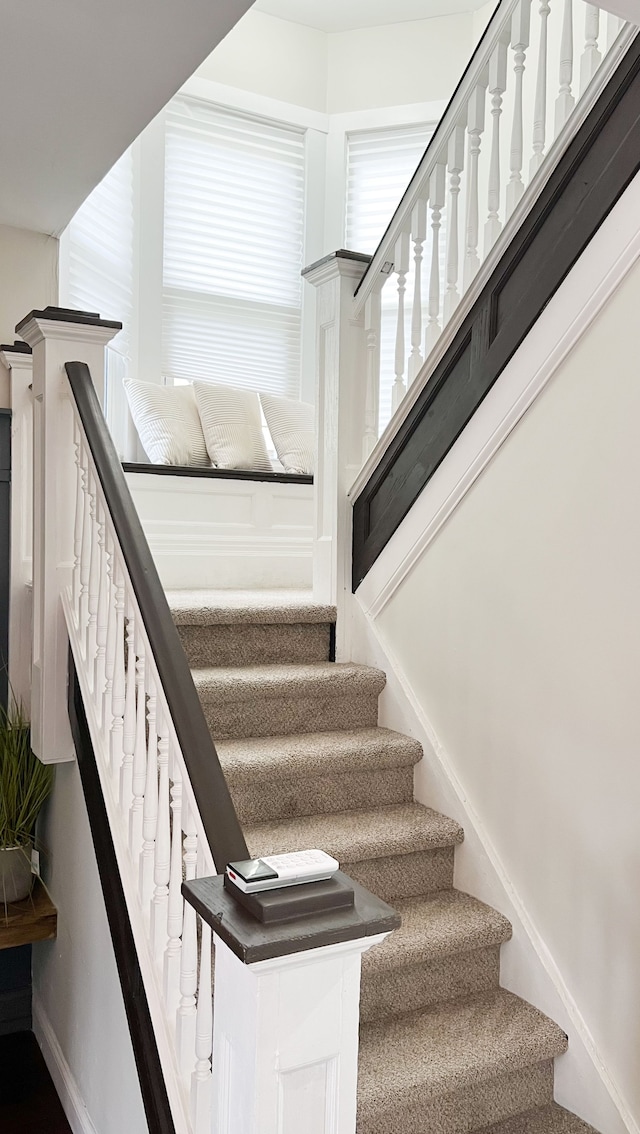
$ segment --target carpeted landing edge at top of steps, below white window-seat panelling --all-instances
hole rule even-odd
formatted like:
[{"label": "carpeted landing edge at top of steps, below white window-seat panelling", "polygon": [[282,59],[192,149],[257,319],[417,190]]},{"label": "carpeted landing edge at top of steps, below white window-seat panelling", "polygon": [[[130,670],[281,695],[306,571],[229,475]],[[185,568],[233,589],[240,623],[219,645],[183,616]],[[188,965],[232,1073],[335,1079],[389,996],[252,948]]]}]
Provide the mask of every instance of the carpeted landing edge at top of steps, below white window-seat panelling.
[{"label": "carpeted landing edge at top of steps, below white window-seat panelling", "polygon": [[177,626],[336,621],[310,591],[167,591],[167,601]]}]

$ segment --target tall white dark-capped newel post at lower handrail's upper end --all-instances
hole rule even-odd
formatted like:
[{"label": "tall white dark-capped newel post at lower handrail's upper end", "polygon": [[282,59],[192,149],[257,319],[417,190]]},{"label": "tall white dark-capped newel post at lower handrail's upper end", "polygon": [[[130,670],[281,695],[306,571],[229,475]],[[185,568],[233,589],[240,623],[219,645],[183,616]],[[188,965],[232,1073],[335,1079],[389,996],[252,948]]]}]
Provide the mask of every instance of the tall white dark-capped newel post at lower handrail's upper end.
[{"label": "tall white dark-capped newel post at lower handrail's upper end", "polygon": [[68,636],[60,604],[71,583],[76,464],[65,363],[87,364],[103,400],[104,347],[119,323],[59,307],[33,311],[16,331],[33,350],[33,667],[31,727],[44,763],[73,760],[67,713]]}]

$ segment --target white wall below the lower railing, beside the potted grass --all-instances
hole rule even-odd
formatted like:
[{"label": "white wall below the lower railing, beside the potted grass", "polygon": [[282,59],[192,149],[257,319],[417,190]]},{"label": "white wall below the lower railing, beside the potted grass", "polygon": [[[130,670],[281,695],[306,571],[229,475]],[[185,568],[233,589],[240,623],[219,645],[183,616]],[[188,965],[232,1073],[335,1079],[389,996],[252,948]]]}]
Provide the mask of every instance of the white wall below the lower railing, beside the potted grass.
[{"label": "white wall below the lower railing, beside the potted grass", "polygon": [[[40,840],[43,878],[58,907],[58,937],[33,947],[34,1031],[50,1060],[47,1039],[54,1034],[58,1066],[50,1069],[59,1093],[60,1065],[62,1075],[70,1068],[74,1082],[62,1084],[61,1098],[74,1134],[146,1134],[76,763],[56,769]],[[69,1114],[74,1098],[77,1109]]]}]

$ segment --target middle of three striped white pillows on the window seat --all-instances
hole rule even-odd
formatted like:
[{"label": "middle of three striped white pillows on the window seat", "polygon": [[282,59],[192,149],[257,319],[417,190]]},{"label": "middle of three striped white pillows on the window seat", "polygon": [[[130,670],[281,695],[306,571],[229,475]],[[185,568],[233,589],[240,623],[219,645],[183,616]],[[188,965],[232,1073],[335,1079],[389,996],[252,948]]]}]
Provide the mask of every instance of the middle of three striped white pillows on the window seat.
[{"label": "middle of three striped white pillows on the window seat", "polygon": [[271,473],[258,395],[231,386],[194,382],[207,450],[218,468]]}]

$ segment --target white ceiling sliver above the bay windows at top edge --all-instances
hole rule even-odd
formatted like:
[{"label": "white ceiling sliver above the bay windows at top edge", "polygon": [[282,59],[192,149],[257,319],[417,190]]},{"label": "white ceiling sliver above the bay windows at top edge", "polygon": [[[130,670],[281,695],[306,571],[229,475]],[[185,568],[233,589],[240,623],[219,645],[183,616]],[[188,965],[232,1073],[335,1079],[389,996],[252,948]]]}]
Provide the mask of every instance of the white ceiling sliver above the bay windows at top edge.
[{"label": "white ceiling sliver above the bay windows at top edge", "polygon": [[482,8],[487,0],[256,0],[259,11],[321,32],[403,24]]}]

